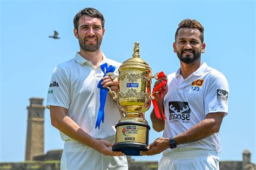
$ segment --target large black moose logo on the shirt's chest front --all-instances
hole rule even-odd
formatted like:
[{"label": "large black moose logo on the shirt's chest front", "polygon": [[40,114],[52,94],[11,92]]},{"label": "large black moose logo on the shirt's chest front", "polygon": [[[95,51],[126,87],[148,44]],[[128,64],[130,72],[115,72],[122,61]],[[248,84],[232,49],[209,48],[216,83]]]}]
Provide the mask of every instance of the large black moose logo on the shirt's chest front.
[{"label": "large black moose logo on the shirt's chest front", "polygon": [[184,101],[169,101],[169,123],[190,123],[190,107]]}]

